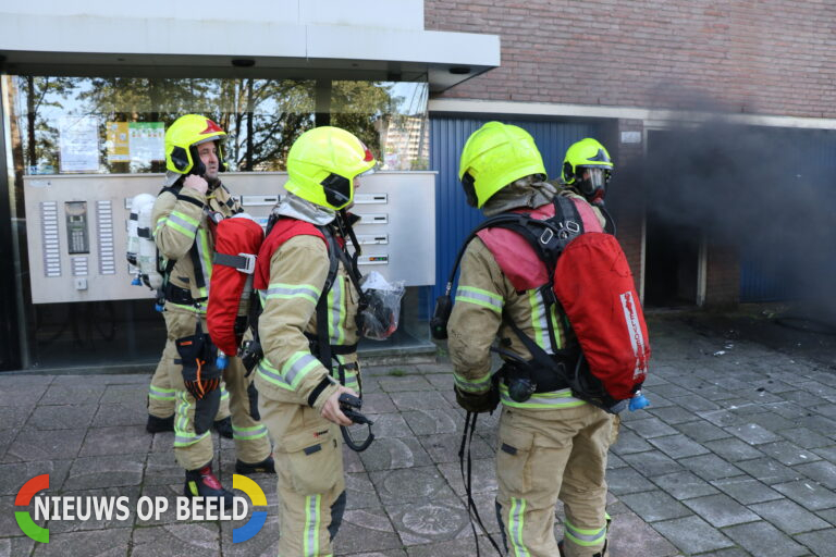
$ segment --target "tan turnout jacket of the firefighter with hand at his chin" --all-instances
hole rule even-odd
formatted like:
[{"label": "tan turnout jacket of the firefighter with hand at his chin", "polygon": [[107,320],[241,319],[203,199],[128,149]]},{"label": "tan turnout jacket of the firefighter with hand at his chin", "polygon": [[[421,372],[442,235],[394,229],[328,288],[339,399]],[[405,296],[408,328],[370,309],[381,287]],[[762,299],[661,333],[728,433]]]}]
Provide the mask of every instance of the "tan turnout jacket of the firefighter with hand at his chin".
[{"label": "tan turnout jacket of the firefighter with hand at his chin", "polygon": [[[206,312],[205,300],[209,296],[214,255],[214,223],[208,215],[218,212],[228,218],[241,211],[241,205],[220,182],[206,195],[188,187],[182,187],[180,191],[165,189],[153,202],[153,240],[163,257],[163,267],[168,261],[175,261],[169,283],[189,290],[195,300],[202,299],[201,313]],[[189,253],[193,249],[200,261],[200,269],[196,269],[193,262]],[[202,286],[198,284],[198,273],[201,274]]]}]

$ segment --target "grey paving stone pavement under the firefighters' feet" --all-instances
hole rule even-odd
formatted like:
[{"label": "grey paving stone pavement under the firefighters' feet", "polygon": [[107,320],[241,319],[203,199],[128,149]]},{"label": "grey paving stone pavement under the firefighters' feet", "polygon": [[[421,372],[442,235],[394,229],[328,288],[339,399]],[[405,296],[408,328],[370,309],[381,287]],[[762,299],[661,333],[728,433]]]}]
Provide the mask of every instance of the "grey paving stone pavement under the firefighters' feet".
[{"label": "grey paving stone pavement under the firefighters' feet", "polygon": [[[652,406],[624,413],[608,463],[611,557],[836,555],[836,372],[826,362],[651,319]],[[723,354],[720,354],[720,352]],[[0,374],[0,557],[272,556],[276,492],[265,528],[233,544],[239,521],[58,521],[50,543],[24,536],[14,497],[49,474],[50,495],[167,496],[182,488],[172,434],[145,433],[149,375]],[[457,450],[464,413],[445,363],[365,370],[378,441],[345,451],[347,509],[335,547],[354,557],[476,555]],[[474,498],[491,535],[496,417],[474,438]],[[231,485],[234,446],[216,441]],[[219,443],[220,441],[220,443]],[[17,507],[21,509],[21,507]],[[29,508],[29,510],[32,510]],[[556,509],[557,535],[562,509]],[[480,534],[483,555],[491,555]]]}]

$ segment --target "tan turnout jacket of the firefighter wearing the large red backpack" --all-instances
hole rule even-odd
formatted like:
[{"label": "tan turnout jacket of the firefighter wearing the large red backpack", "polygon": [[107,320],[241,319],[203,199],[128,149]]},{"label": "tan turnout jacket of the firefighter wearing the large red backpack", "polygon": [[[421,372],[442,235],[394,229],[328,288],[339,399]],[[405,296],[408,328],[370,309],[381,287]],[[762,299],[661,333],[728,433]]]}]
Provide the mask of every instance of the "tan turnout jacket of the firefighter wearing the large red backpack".
[{"label": "tan turnout jacket of the firefighter wearing the large red backpack", "polygon": [[[583,199],[569,191],[561,195]],[[603,226],[604,218],[600,211],[593,208],[593,212]],[[526,360],[531,359],[528,349],[508,325],[511,321],[549,354],[577,346],[560,305],[553,305],[548,312],[545,300],[537,288],[517,292],[481,238],[475,237],[468,244],[460,269],[455,305],[447,324],[447,347],[456,386],[462,391],[479,394],[491,387],[490,347],[497,337],[501,348]],[[552,346],[546,320],[554,326],[556,346]],[[516,403],[508,397],[503,382],[500,382],[500,398],[506,406],[531,409],[586,404],[573,397],[568,388],[536,393],[526,403]]]}]

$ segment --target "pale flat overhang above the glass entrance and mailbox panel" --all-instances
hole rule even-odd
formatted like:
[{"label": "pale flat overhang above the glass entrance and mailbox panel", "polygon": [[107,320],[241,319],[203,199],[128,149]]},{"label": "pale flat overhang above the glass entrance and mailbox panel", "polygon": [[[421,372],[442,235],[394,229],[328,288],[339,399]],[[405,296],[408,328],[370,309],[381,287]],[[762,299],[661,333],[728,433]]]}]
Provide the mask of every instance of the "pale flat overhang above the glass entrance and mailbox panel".
[{"label": "pale flat overhang above the glass entrance and mailbox panel", "polygon": [[441,91],[499,65],[497,35],[0,12],[9,74],[428,81]]}]

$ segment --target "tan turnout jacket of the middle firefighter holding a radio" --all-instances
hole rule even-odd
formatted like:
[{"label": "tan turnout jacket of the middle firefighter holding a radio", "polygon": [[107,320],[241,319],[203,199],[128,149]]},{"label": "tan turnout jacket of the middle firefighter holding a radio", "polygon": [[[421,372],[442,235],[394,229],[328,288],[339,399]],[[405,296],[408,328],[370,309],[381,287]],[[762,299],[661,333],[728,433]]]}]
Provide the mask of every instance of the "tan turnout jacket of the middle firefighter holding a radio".
[{"label": "tan turnout jacket of the middle firefighter holding a radio", "polygon": [[[265,253],[259,253],[261,257]],[[310,338],[316,338],[318,325],[316,308],[329,264],[324,240],[308,234],[291,237],[270,256],[269,284],[259,290],[263,310],[258,334],[265,357],[255,380],[265,398],[321,410],[336,391],[336,384],[328,379],[332,369],[342,369],[345,386],[358,389],[358,294],[342,261],[327,294],[328,323],[323,326],[328,327],[332,347],[343,347],[340,351],[348,354],[335,356],[339,363],[334,361],[332,369],[325,369],[311,352]]]}]

